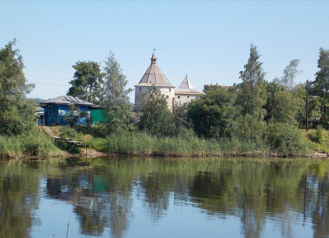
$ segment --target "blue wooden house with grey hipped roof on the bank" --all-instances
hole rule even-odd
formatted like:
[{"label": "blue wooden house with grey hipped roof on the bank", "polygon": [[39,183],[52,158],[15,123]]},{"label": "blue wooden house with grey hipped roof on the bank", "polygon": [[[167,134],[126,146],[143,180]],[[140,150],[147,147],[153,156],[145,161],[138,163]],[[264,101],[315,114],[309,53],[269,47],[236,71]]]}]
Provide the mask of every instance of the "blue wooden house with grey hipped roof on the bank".
[{"label": "blue wooden house with grey hipped roof on the bank", "polygon": [[[83,101],[81,99],[72,96],[61,96],[53,99],[48,99],[46,101],[40,102],[41,107],[44,109],[44,126],[50,125],[67,125],[67,122],[63,120],[63,115],[69,115],[70,109],[68,104],[74,104],[75,107],[79,108],[80,111],[87,111],[90,116],[90,108],[95,106],[95,104]],[[89,117],[88,116],[88,117]],[[87,118],[80,118],[78,125],[86,124]]]}]

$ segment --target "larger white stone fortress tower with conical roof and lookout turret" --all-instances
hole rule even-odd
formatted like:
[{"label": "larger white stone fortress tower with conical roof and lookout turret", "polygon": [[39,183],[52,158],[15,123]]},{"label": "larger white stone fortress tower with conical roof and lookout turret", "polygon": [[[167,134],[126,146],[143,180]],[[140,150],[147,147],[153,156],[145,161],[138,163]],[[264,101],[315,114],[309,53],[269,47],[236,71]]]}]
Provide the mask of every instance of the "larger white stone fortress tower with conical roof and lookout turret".
[{"label": "larger white stone fortress tower with conical roof and lookout turret", "polygon": [[164,76],[164,73],[162,73],[161,69],[157,65],[157,58],[155,58],[154,52],[151,57],[150,67],[148,67],[139,83],[135,85],[134,109],[142,109],[140,97],[142,94],[147,92],[153,84],[160,89],[161,93],[167,100],[168,108],[172,110],[172,101],[175,99],[175,86],[169,83],[168,79]]}]

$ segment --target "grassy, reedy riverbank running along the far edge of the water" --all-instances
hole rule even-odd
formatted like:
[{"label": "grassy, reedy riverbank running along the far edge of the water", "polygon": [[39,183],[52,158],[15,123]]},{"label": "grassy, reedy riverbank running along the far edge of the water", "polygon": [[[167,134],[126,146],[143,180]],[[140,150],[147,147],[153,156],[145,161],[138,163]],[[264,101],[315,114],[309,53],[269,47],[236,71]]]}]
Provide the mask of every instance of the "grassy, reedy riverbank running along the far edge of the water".
[{"label": "grassy, reedy riverbank running along the far edge of the water", "polygon": [[[204,139],[195,136],[157,137],[145,132],[123,131],[106,138],[94,137],[82,128],[54,127],[57,135],[74,138],[89,144],[87,157],[137,156],[137,157],[304,157],[326,158],[327,143],[312,141],[315,130],[302,131],[304,147],[291,147],[283,151],[273,149],[264,140],[243,141],[237,139]],[[9,158],[76,157],[86,156],[85,152],[63,142],[55,142],[36,130],[17,136],[0,136],[0,156]]]}]

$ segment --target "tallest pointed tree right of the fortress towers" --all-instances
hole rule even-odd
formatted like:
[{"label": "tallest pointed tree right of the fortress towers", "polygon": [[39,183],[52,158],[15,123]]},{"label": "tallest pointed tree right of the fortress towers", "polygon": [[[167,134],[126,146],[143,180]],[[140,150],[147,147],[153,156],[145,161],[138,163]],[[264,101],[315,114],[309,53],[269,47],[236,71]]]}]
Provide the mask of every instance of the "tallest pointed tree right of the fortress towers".
[{"label": "tallest pointed tree right of the fortress towers", "polygon": [[266,110],[263,106],[267,100],[267,83],[264,79],[263,62],[259,61],[260,54],[257,47],[251,44],[250,56],[247,64],[244,65],[244,71],[240,71],[240,79],[242,83],[239,85],[239,100],[238,104],[242,106],[242,114],[257,115],[263,119],[266,115]]}]

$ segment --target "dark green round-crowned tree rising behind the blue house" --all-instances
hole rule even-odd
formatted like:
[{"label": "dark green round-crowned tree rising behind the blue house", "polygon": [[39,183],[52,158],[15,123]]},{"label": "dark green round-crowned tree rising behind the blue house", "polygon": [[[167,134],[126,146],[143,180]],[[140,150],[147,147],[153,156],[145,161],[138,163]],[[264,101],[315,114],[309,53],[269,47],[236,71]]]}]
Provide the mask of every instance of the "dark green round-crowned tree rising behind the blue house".
[{"label": "dark green round-crowned tree rising behind the blue house", "polygon": [[73,79],[69,82],[72,87],[68,89],[67,95],[78,97],[90,103],[98,103],[101,96],[101,84],[103,74],[100,64],[94,61],[78,61],[72,65],[76,71]]}]

